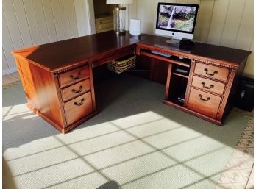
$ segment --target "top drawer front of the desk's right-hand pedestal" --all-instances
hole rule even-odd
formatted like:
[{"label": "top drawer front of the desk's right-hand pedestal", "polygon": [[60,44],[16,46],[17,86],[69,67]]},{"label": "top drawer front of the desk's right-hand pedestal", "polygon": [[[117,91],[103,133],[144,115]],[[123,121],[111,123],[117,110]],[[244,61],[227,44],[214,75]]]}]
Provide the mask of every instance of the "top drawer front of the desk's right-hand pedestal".
[{"label": "top drawer front of the desk's right-hand pedestal", "polygon": [[227,68],[221,68],[218,66],[207,65],[203,63],[196,63],[194,73],[214,79],[219,79],[222,81],[227,81],[227,77],[229,76],[229,70]]}]

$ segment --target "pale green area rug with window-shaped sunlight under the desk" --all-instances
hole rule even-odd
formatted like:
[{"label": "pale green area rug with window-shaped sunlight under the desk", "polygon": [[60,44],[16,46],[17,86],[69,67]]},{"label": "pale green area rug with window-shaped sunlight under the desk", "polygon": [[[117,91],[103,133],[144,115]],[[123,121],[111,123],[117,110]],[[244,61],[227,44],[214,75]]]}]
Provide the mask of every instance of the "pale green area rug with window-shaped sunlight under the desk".
[{"label": "pale green area rug with window-shaped sunlight under the desk", "polygon": [[15,188],[215,188],[246,126],[163,104],[165,86],[121,74],[96,86],[99,114],[66,135],[3,89],[3,157]]}]

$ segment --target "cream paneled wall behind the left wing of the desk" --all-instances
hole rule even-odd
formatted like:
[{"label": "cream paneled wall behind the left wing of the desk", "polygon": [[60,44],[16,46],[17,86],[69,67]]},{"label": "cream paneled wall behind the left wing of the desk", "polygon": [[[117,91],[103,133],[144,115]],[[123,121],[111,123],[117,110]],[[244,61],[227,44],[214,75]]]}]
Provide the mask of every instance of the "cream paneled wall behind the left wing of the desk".
[{"label": "cream paneled wall behind the left wing of the desk", "polygon": [[88,9],[88,0],[3,0],[3,74],[16,70],[13,49],[93,32]]}]

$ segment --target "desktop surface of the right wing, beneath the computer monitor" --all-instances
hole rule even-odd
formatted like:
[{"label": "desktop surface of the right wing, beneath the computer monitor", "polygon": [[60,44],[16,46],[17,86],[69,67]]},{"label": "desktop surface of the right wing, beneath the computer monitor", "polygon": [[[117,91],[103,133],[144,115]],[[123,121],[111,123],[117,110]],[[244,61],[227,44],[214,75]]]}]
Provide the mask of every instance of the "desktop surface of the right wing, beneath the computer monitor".
[{"label": "desktop surface of the right wing, beneath the computer monitor", "polygon": [[148,46],[150,48],[154,47],[160,51],[169,52],[179,52],[179,54],[189,55],[195,59],[207,58],[209,60],[216,60],[217,62],[221,60],[230,65],[238,66],[246,60],[250,51],[244,51],[241,49],[232,49],[224,46],[215,46],[206,43],[195,43],[190,50],[180,49],[179,44],[166,43],[169,38],[156,36],[150,40],[143,40],[138,43],[138,46]]}]

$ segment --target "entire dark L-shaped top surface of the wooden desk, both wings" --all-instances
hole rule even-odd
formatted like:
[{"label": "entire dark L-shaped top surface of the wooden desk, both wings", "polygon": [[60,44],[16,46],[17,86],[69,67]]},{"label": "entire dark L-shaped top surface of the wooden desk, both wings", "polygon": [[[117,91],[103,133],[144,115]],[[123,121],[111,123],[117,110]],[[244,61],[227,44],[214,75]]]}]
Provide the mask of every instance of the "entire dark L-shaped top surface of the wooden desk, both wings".
[{"label": "entire dark L-shaped top surface of the wooden desk, both wings", "polygon": [[71,65],[97,60],[100,57],[113,54],[118,49],[128,46],[148,46],[160,51],[179,52],[195,59],[207,58],[221,60],[229,65],[240,65],[251,53],[240,49],[231,49],[223,46],[214,46],[205,43],[196,43],[191,50],[179,49],[179,45],[166,43],[168,38],[141,35],[141,38],[131,38],[126,35],[115,35],[115,32],[102,32],[70,40],[62,40],[13,51],[17,57],[29,60],[48,71],[56,71]]}]

